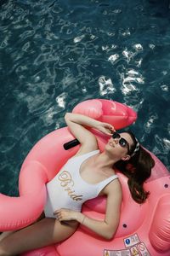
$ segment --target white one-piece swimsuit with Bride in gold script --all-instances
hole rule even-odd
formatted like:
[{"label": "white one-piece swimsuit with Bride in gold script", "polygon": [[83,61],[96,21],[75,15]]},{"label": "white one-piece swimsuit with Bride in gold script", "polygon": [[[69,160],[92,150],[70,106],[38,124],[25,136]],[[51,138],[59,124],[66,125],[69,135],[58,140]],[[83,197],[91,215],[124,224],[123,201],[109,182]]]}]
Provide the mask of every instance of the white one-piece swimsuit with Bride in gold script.
[{"label": "white one-piece swimsuit with Bride in gold script", "polygon": [[80,212],[84,201],[97,197],[108,183],[117,178],[117,175],[113,175],[95,184],[87,183],[82,179],[80,175],[82,162],[98,153],[99,150],[94,150],[71,158],[57,175],[47,183],[48,197],[44,208],[46,217],[54,218],[54,211],[60,208]]}]

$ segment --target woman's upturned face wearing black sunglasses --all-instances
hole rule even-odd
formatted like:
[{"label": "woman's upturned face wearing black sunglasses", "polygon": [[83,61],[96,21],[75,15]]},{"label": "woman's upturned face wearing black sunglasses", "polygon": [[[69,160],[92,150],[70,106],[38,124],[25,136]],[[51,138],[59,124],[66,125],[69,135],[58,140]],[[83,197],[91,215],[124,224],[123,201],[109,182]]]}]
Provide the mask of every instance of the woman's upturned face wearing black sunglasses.
[{"label": "woman's upturned face wearing black sunglasses", "polygon": [[129,148],[133,145],[133,139],[127,132],[116,133],[115,137],[111,137],[105,146],[105,150],[109,151],[113,156],[120,160],[128,155]]}]

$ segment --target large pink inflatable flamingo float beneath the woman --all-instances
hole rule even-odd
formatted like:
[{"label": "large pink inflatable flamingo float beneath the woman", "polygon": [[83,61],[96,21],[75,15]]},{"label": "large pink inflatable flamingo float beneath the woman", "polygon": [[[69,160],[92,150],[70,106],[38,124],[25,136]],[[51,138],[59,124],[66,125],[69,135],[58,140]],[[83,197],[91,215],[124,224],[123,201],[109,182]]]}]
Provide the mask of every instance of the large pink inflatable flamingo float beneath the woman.
[{"label": "large pink inflatable flamingo float beneath the woman", "polygon": [[[116,130],[131,125],[137,118],[133,109],[121,103],[98,99],[78,104],[73,112],[111,123]],[[93,132],[102,151],[108,137],[97,131]],[[65,150],[64,144],[73,139],[65,127],[49,133],[31,149],[20,171],[20,197],[0,194],[1,231],[18,230],[39,217],[46,202],[45,184],[79,148],[76,146]],[[169,256],[170,174],[154,154],[152,157],[156,165],[151,177],[144,184],[145,189],[150,191],[150,196],[142,205],[133,201],[127,188],[127,178],[117,171],[123,191],[122,213],[116,235],[111,241],[105,241],[80,225],[75,234],[66,241],[23,255]],[[91,218],[103,219],[105,197],[87,201],[82,212]]]}]

